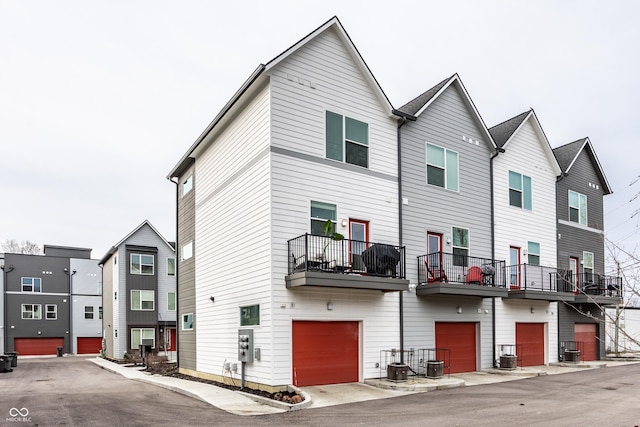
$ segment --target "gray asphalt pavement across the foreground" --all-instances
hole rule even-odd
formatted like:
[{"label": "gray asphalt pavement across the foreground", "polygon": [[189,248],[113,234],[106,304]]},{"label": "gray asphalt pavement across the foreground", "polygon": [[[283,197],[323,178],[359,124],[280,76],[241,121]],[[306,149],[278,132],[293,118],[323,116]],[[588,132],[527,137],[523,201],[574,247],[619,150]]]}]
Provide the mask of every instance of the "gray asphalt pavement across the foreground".
[{"label": "gray asphalt pavement across the foreground", "polygon": [[640,364],[253,416],[72,356],[19,360],[0,393],[0,424],[12,426],[640,425]]}]

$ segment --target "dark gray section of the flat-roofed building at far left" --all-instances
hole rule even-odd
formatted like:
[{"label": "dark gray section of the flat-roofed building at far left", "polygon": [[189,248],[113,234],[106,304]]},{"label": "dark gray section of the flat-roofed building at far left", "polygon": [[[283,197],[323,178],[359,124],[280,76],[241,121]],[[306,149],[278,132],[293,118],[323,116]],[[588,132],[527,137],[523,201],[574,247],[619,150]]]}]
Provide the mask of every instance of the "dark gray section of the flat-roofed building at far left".
[{"label": "dark gray section of the flat-roofed building at far left", "polygon": [[[72,353],[72,259],[90,260],[91,249],[44,246],[43,255],[5,254],[5,351]],[[93,261],[95,263],[95,261]]]}]

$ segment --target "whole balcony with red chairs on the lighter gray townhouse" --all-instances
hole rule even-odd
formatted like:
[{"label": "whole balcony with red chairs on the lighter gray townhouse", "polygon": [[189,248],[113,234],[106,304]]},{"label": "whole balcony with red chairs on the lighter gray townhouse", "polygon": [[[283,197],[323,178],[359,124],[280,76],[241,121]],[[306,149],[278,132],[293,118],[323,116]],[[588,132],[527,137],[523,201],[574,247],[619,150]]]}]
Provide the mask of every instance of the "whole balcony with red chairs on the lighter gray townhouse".
[{"label": "whole balcony with red chairs on the lighter gray townhouse", "polygon": [[416,295],[506,297],[504,261],[444,252],[418,257]]}]

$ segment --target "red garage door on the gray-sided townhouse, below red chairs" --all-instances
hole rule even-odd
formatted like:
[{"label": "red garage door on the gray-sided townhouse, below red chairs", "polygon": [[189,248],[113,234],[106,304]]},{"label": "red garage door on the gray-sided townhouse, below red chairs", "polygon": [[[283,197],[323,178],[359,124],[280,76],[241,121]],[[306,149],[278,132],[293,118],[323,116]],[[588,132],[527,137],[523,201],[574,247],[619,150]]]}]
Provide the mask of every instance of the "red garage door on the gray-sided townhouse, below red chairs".
[{"label": "red garage door on the gray-sided townhouse, below red chairs", "polygon": [[477,369],[475,323],[436,322],[436,347],[449,349],[452,374]]}]

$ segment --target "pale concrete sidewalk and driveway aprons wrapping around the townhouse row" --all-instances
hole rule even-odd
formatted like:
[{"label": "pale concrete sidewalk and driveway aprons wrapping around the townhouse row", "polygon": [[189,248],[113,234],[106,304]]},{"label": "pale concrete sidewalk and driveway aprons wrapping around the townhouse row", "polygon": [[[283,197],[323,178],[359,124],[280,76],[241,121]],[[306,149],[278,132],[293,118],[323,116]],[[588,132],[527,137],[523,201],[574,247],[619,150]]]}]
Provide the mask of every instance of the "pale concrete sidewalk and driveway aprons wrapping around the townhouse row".
[{"label": "pale concrete sidewalk and driveway aprons wrapping around the townhouse row", "polygon": [[305,401],[303,403],[298,405],[287,405],[282,402],[216,387],[210,384],[150,374],[148,372],[141,371],[140,368],[126,367],[99,357],[87,360],[90,360],[96,365],[111,372],[120,374],[126,378],[145,382],[147,384],[154,384],[200,399],[210,405],[236,415],[274,414],[296,409],[334,406],[454,387],[492,384],[541,375],[555,375],[584,369],[596,369],[640,363],[638,361],[626,360],[607,360],[583,363],[552,363],[548,366],[517,368],[512,371],[488,369],[485,371],[466,372],[461,374],[445,375],[438,379],[412,376],[406,381],[397,382],[387,379],[370,379],[366,380],[364,384],[349,383],[311,386],[301,388],[301,392],[305,397]]}]

